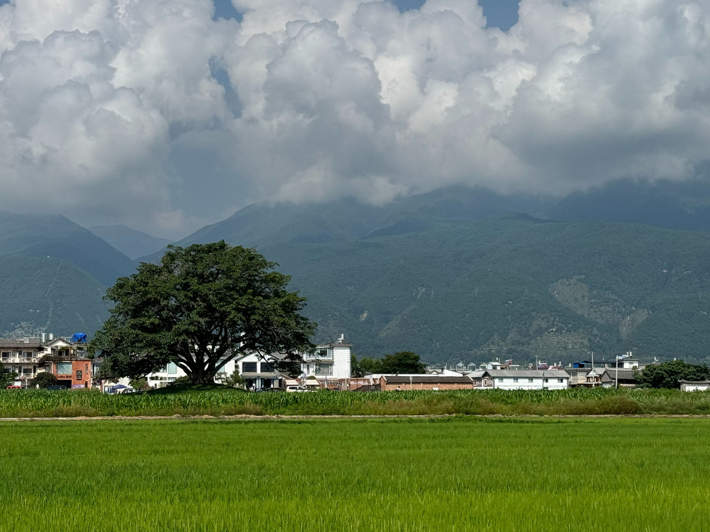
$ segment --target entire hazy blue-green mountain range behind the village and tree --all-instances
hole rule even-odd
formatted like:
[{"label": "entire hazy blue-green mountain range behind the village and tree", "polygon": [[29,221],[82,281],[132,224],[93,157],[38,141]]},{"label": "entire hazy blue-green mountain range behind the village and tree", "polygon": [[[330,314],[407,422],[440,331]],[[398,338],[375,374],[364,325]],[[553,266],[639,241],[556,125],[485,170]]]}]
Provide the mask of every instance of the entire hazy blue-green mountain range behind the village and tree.
[{"label": "entire hazy blue-green mountain range behind the village and tree", "polygon": [[[344,333],[358,355],[706,361],[709,198],[702,184],[622,182],[562,200],[453,187],[387,206],[253,204],[177,244],[256,247],[308,298],[316,340]],[[0,331],[91,335],[105,288],[165,245],[92,231],[0,213]]]}]

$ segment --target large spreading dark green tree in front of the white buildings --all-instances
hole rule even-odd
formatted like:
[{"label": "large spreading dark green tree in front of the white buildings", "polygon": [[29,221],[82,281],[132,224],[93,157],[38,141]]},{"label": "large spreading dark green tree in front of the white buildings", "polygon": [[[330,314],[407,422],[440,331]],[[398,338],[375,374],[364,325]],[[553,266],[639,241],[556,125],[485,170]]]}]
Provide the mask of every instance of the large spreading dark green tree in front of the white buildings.
[{"label": "large spreading dark green tree in front of the white buildings", "polygon": [[136,378],[175,362],[197,384],[244,353],[293,365],[315,348],[316,324],[299,314],[306,299],[288,292],[290,277],[275,266],[224,240],[170,245],[159,264],[141,262],[104,297],[115,306],[91,344],[102,372]]}]

